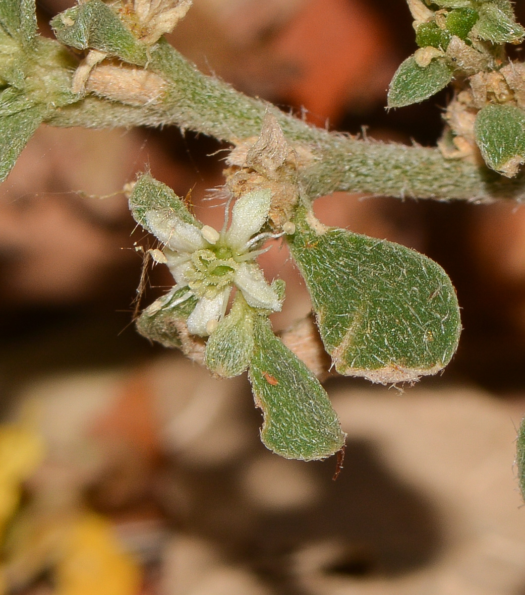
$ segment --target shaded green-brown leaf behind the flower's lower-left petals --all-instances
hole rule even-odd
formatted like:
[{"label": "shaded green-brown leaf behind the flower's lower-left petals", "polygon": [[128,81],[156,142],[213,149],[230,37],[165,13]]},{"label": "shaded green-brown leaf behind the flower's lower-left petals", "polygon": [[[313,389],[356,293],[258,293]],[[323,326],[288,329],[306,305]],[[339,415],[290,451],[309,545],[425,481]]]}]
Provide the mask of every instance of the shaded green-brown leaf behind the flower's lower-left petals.
[{"label": "shaded green-brown leaf behind the flower's lower-left petals", "polygon": [[185,294],[187,294],[187,287],[179,289],[173,295],[167,293],[148,306],[136,320],[137,331],[146,339],[157,341],[164,347],[185,350],[186,342],[196,340],[195,337],[190,339],[187,336],[185,325],[187,317],[193,312],[197,303],[196,297],[190,296],[177,304]]}]

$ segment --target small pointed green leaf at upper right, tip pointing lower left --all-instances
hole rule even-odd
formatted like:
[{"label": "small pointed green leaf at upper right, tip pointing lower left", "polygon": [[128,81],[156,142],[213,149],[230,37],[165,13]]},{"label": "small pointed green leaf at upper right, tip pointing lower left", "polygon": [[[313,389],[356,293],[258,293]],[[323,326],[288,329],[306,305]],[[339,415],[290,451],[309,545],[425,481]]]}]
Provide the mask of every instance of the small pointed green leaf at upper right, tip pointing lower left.
[{"label": "small pointed green leaf at upper right, tip pointing lower left", "polygon": [[414,56],[396,70],[388,90],[388,107],[400,108],[428,99],[452,80],[454,69],[444,58],[435,58],[426,68],[417,65]]}]

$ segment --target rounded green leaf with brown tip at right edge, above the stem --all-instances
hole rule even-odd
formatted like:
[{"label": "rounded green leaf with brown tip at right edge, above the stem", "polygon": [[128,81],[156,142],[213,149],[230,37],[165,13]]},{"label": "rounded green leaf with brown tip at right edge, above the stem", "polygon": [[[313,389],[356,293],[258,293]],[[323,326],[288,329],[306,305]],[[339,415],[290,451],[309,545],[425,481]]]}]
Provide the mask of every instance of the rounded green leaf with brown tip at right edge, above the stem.
[{"label": "rounded green leaf with brown tip at right edge, above the stem", "polygon": [[474,136],[485,163],[507,177],[525,162],[525,112],[515,105],[487,105],[478,112]]}]

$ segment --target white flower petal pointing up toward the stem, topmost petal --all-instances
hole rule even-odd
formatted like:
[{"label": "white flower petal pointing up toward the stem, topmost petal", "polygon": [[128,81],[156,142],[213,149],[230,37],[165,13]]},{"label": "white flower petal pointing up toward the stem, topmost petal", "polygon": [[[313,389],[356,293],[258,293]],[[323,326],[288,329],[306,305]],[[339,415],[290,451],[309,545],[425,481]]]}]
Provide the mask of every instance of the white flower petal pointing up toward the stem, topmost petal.
[{"label": "white flower petal pointing up toward the stem, topmost petal", "polygon": [[264,225],[270,211],[271,190],[254,190],[240,196],[233,205],[232,224],[226,243],[237,253],[246,251],[246,242]]}]

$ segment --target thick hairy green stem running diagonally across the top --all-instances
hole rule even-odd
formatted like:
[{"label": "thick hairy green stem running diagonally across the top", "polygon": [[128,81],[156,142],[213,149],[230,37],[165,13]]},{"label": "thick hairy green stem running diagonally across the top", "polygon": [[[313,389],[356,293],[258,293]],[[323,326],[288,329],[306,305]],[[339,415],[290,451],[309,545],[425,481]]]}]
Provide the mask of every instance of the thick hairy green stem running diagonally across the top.
[{"label": "thick hairy green stem running diagonally across the top", "polygon": [[[149,69],[164,80],[162,102],[126,105],[121,88],[117,102],[109,81],[107,87],[101,83],[96,89],[102,97],[89,95],[57,109],[48,124],[96,128],[175,124],[239,145],[260,134],[269,111],[276,115],[290,145],[299,155],[308,155],[300,159],[299,181],[312,198],[342,190],[440,201],[525,199],[523,174],[509,180],[483,166],[445,159],[439,149],[362,140],[314,128],[205,76],[167,42],[152,51]],[[97,68],[92,77],[96,72]],[[98,72],[102,76],[104,70]],[[121,84],[125,86],[125,81]]]}]

